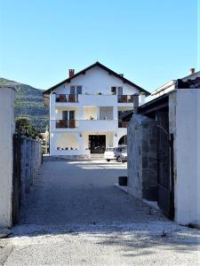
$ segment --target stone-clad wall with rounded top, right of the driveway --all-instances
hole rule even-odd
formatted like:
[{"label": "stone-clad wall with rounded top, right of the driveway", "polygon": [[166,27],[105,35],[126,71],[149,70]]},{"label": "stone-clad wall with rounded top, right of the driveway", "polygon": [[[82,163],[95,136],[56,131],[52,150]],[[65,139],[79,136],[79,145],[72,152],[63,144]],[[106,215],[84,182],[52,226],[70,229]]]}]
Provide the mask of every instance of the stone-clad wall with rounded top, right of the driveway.
[{"label": "stone-clad wall with rounded top, right of the driveway", "polygon": [[128,125],[128,192],[140,200],[156,200],[156,188],[156,121],[134,114]]}]

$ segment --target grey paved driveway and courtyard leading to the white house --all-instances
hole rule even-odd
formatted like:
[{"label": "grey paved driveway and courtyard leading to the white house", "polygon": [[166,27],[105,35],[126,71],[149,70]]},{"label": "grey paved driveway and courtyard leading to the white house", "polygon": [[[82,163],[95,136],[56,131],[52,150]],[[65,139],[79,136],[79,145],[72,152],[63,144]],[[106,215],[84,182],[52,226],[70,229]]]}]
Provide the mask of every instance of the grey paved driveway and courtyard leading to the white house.
[{"label": "grey paved driveway and courtyard leading to the white house", "polygon": [[126,164],[45,161],[0,265],[200,265],[200,231],[118,190]]}]

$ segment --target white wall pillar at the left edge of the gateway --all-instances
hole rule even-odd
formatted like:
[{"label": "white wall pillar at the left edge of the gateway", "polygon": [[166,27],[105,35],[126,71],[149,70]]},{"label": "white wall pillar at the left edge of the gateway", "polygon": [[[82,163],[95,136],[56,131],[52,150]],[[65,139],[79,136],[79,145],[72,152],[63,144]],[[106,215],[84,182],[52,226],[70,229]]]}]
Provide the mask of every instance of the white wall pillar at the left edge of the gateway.
[{"label": "white wall pillar at the left edge of the gateway", "polygon": [[12,225],[12,135],[14,90],[0,88],[0,226]]}]

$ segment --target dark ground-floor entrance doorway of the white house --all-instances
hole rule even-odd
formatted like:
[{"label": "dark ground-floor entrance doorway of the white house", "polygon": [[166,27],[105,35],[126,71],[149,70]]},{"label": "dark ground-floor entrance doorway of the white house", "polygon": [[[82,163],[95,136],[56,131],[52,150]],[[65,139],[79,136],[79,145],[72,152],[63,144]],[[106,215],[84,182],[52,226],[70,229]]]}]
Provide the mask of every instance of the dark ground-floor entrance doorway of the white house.
[{"label": "dark ground-floor entrance doorway of the white house", "polygon": [[91,153],[104,153],[106,149],[106,135],[89,135]]}]

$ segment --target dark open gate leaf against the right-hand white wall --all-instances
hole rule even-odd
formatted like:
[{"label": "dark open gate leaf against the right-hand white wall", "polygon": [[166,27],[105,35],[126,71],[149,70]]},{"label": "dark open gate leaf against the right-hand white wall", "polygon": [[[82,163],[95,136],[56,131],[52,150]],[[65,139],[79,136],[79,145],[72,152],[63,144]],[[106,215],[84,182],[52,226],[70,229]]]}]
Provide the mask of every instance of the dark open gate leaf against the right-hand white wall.
[{"label": "dark open gate leaf against the right-hand white wall", "polygon": [[173,219],[173,176],[170,163],[168,111],[159,111],[157,122],[157,204],[164,215]]}]

